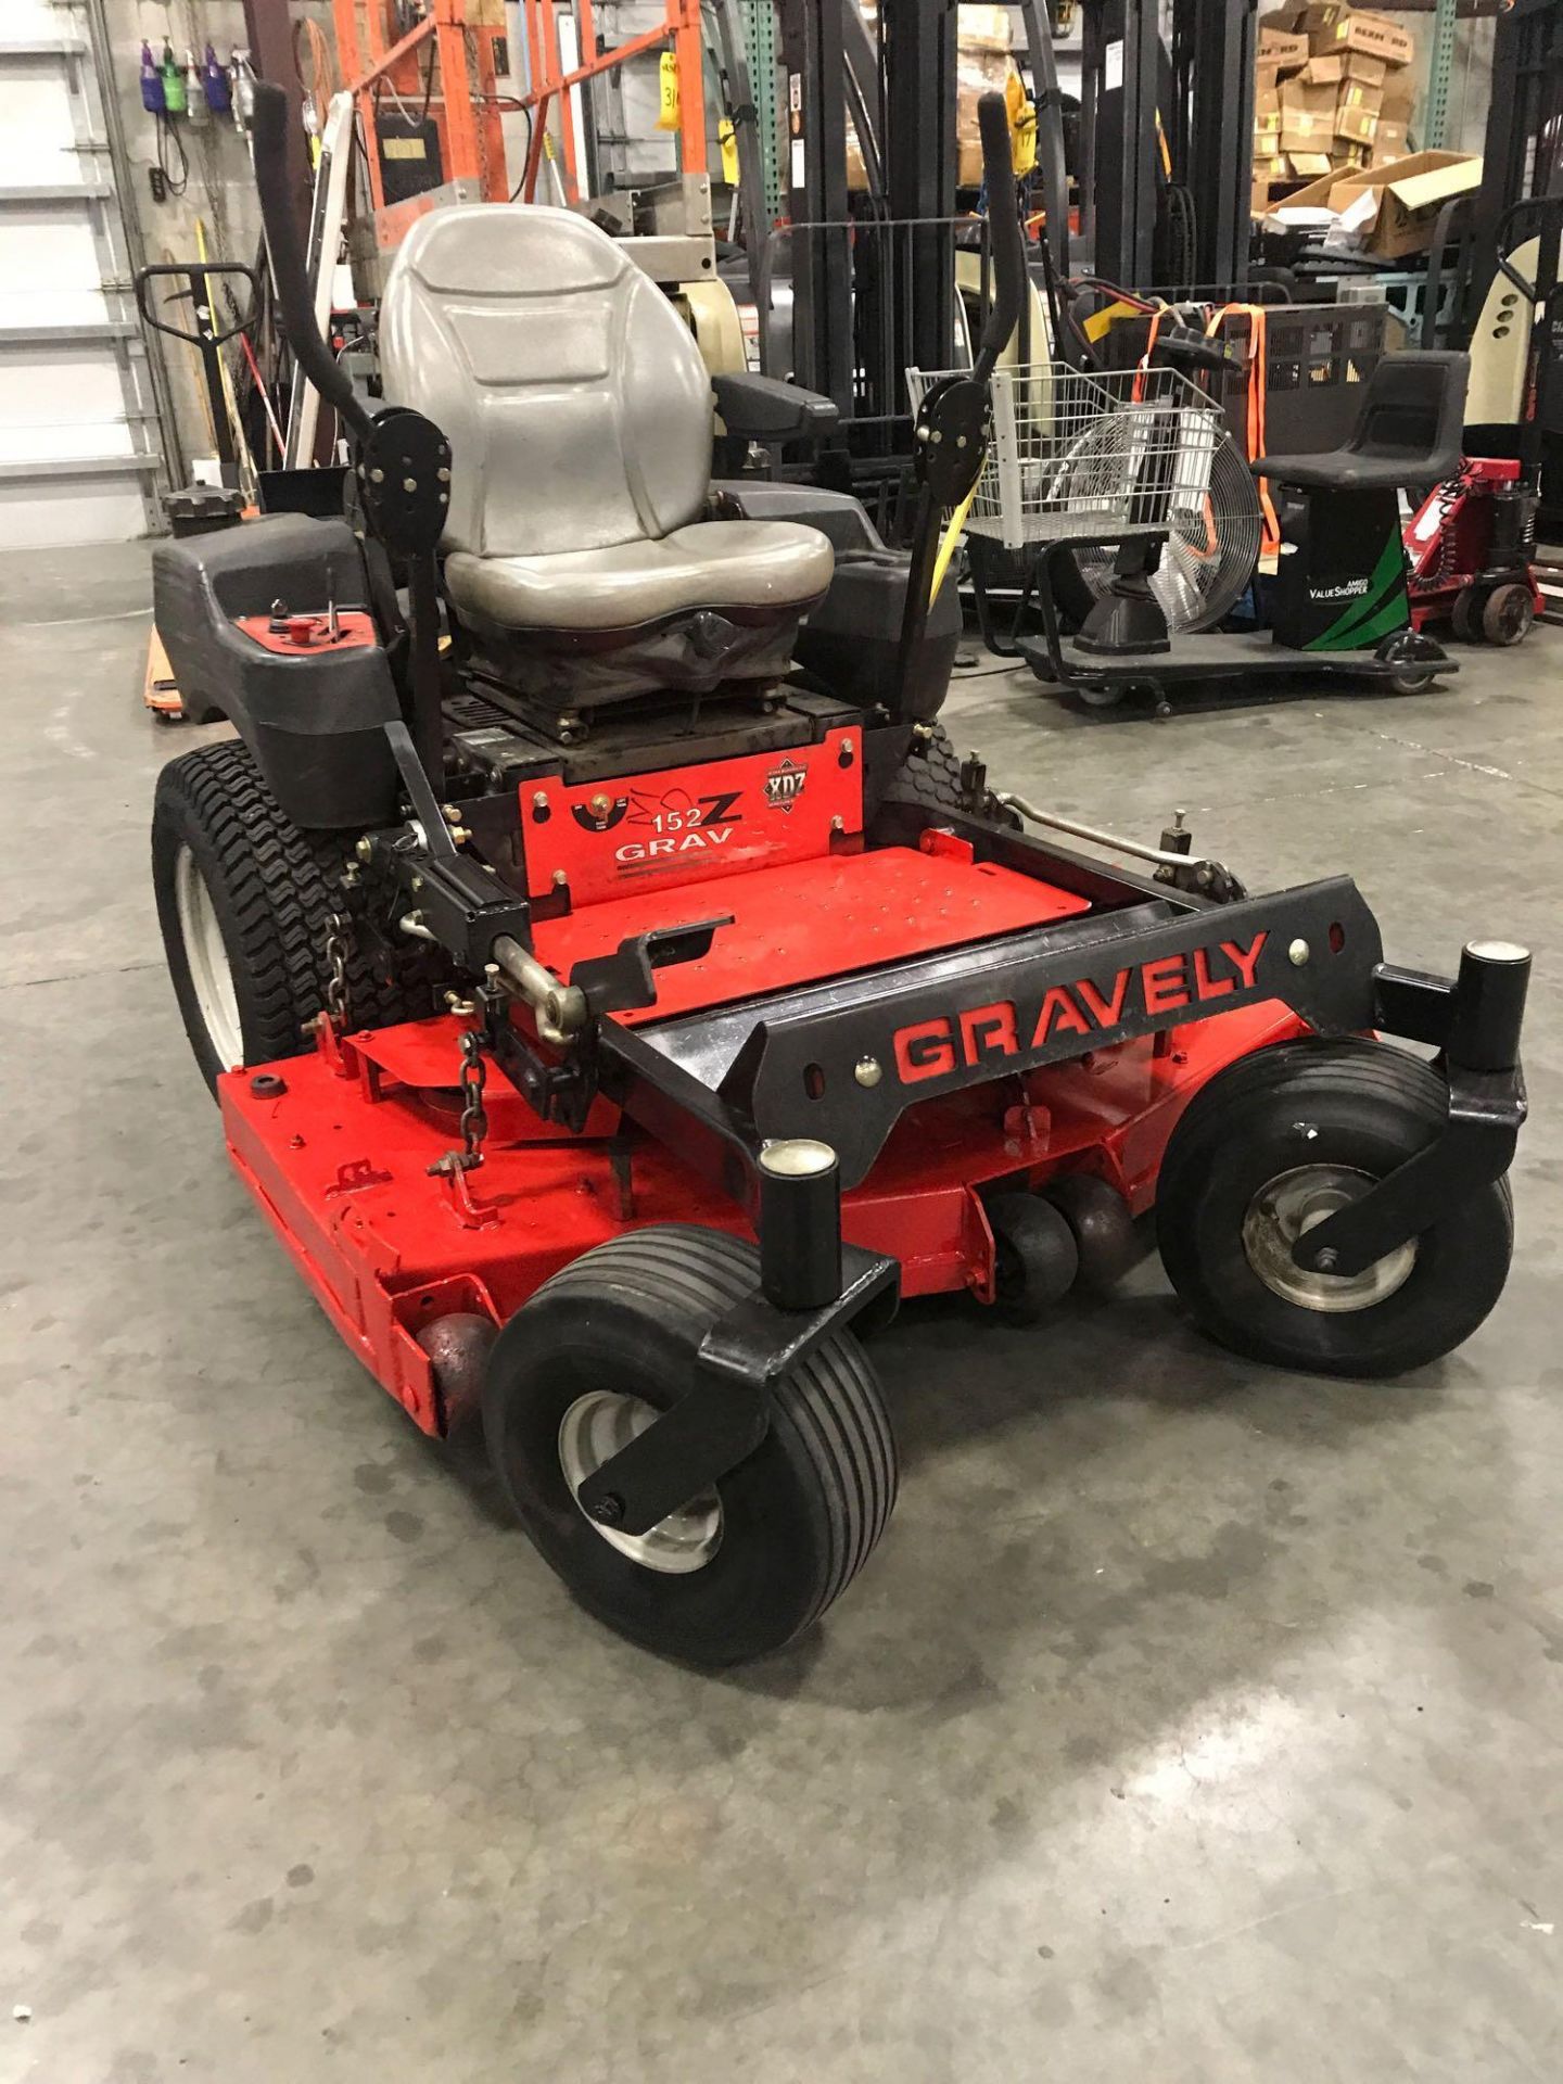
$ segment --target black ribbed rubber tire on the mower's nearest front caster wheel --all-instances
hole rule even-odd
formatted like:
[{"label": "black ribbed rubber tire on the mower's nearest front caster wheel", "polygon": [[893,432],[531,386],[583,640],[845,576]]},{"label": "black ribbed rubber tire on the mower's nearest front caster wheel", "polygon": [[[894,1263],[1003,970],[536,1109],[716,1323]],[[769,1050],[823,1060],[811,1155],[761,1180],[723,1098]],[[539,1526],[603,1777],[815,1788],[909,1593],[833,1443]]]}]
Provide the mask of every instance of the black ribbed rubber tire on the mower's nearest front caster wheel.
[{"label": "black ribbed rubber tire on the mower's nearest front caster wheel", "polygon": [[483,1388],[490,1459],[544,1561],[609,1628],[694,1665],[744,1663],[811,1628],[896,1503],[896,1442],[850,1332],[773,1384],[765,1440],[717,1484],[721,1536],[700,1567],[675,1576],[634,1561],[575,1503],[565,1413],[602,1388],[673,1405],[706,1330],[756,1280],[759,1255],[742,1238],[681,1223],[627,1232],[517,1311]]}]

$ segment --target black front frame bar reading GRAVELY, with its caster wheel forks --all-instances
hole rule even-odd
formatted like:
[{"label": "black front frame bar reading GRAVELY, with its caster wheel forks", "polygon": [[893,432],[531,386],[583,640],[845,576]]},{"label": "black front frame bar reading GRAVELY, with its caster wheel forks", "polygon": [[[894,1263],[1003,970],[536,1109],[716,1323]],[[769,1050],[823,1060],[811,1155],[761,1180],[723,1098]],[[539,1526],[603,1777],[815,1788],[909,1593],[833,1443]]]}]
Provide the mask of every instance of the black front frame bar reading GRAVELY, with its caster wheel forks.
[{"label": "black front frame bar reading GRAVELY, with its caster wheel forks", "polygon": [[[1344,1275],[1509,1169],[1525,1119],[1528,982],[1530,957],[1503,942],[1465,948],[1457,979],[1384,963],[1371,911],[1340,877],[1198,911],[1150,898],[890,977],[811,986],[769,1000],[763,1019],[740,1007],[642,1029],[606,1021],[604,1050],[625,1073],[625,1109],[663,1132],[677,1125],[684,1152],[742,1198],[754,1152],[773,1138],[829,1140],[850,1186],[923,1096],[1234,1007],[1280,1000],[1325,1036],[1384,1029],[1440,1050],[1448,1121],[1296,1242],[1298,1265]],[[877,1084],[857,1075],[867,1059]],[[834,1221],[840,1294],[788,1309],[761,1292],[713,1325],[690,1394],[581,1486],[588,1513],[642,1534],[677,1511],[765,1436],[779,1373],[869,1302],[894,1298],[894,1261],[840,1244],[840,1192],[815,1221]],[[767,1267],[763,1219],[759,1232]],[[775,1288],[769,1267],[765,1286]]]}]

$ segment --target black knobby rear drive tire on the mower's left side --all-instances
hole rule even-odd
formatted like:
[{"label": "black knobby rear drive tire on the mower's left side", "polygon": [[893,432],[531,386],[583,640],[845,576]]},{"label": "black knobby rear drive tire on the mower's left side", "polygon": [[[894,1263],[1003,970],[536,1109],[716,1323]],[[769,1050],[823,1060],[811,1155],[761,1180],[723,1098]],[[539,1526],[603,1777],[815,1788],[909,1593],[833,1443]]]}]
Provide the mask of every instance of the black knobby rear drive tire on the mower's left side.
[{"label": "black knobby rear drive tire on the mower's left side", "polygon": [[[300,832],[238,742],[200,746],[158,775],[152,886],[173,992],[208,1086],[231,1065],[223,1063],[192,975],[177,894],[181,854],[190,854],[210,900],[233,982],[240,1061],[252,1065],[311,1046],[306,1023],[325,1004],[325,940],[331,913],[344,904],[348,848],[342,834]],[[375,973],[352,934],[346,946],[352,1027],[383,1027],[433,1011],[427,984]]]}]

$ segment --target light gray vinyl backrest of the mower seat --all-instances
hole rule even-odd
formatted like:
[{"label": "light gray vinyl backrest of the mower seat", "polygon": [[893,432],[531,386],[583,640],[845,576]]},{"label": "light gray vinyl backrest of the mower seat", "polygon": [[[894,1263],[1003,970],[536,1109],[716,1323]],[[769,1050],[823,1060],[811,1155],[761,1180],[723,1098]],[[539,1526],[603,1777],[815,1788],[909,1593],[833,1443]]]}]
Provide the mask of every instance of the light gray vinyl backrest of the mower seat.
[{"label": "light gray vinyl backrest of the mower seat", "polygon": [[525,202],[429,210],[390,271],[379,361],[386,402],[450,438],[448,550],[604,550],[704,506],[700,350],[584,217]]}]

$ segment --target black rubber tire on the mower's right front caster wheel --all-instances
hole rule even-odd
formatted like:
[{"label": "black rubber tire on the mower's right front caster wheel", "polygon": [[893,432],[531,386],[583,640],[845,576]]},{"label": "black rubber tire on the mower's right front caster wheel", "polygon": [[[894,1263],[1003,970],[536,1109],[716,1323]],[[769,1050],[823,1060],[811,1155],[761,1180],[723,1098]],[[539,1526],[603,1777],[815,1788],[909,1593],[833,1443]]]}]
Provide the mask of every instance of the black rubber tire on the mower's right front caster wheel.
[{"label": "black rubber tire on the mower's right front caster wheel", "polygon": [[1509,1273],[1507,1180],[1423,1230],[1409,1273],[1367,1307],[1277,1294],[1244,1242],[1244,1219],[1275,1182],[1305,1167],[1380,1180],[1446,1117],[1442,1077],[1382,1042],[1284,1042],[1213,1077],[1173,1130],[1157,1186],[1161,1259],[1202,1330],[1234,1353],[1325,1375],[1398,1375],[1469,1338]]}]

